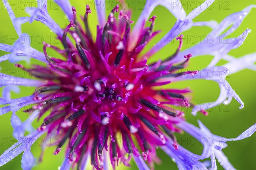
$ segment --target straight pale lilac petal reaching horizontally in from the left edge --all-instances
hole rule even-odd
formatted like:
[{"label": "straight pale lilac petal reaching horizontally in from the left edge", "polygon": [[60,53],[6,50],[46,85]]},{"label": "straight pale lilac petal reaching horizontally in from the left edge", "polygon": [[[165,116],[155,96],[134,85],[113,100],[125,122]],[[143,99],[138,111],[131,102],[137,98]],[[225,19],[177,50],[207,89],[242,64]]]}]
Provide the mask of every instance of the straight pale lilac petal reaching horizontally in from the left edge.
[{"label": "straight pale lilac petal reaching horizontally in from the left edge", "polygon": [[23,86],[41,86],[44,85],[44,81],[35,80],[35,79],[26,79],[21,77],[14,77],[11,75],[0,73],[0,87],[6,85],[23,85]]}]

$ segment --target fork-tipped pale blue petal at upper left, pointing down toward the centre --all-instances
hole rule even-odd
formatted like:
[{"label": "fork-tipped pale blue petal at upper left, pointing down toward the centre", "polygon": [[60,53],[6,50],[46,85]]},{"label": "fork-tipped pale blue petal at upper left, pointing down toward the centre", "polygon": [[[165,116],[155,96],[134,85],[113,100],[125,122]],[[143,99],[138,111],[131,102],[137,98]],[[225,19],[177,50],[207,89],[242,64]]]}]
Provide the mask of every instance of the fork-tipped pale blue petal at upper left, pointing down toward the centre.
[{"label": "fork-tipped pale blue petal at upper left, pointing down toward the centre", "polygon": [[47,27],[49,27],[56,35],[62,37],[63,30],[52,20],[52,17],[48,14],[47,11],[47,0],[38,0],[38,8],[29,7],[26,8],[26,12],[30,14],[30,22],[33,20],[40,21]]}]

